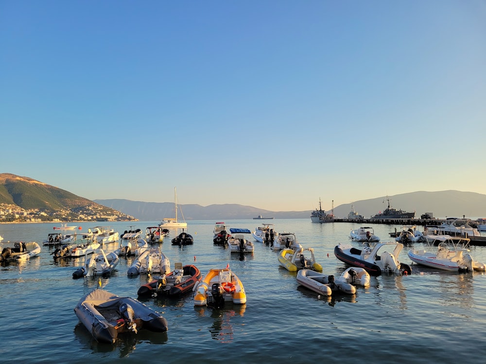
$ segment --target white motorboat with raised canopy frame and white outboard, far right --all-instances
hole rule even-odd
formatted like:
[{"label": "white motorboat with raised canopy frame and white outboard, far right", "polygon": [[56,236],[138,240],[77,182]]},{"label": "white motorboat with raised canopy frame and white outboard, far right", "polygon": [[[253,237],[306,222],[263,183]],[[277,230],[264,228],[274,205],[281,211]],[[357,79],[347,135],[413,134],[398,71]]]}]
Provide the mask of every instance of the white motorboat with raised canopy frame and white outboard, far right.
[{"label": "white motorboat with raised canopy frame and white outboard, far right", "polygon": [[450,272],[486,271],[486,264],[472,258],[469,238],[428,235],[427,241],[427,248],[411,248],[408,251],[412,262]]}]

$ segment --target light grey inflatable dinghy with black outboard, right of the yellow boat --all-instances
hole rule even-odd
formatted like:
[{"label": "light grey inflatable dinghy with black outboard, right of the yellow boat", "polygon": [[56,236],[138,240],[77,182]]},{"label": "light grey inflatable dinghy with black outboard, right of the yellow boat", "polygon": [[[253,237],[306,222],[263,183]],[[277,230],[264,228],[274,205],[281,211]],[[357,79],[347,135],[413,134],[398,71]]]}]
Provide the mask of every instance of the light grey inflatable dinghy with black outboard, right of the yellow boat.
[{"label": "light grey inflatable dinghy with black outboard, right of the yellow boat", "polygon": [[356,288],[351,283],[334,280],[333,275],[315,272],[312,269],[300,269],[296,279],[300,285],[324,296],[330,296],[333,292],[348,295],[356,293]]}]

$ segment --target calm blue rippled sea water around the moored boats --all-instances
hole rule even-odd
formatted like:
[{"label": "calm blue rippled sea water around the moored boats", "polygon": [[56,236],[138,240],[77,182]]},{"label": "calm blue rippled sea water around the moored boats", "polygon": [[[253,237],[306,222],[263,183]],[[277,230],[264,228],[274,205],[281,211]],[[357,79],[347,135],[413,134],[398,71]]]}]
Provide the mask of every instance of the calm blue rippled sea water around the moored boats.
[{"label": "calm blue rippled sea water around the moored boats", "polygon": [[[53,248],[42,247],[24,264],[0,267],[0,343],[2,363],[484,363],[486,358],[486,275],[455,274],[412,265],[412,275],[372,277],[371,287],[356,296],[318,297],[299,287],[295,273],[278,265],[278,253],[255,242],[253,255],[243,259],[215,246],[215,221],[189,222],[194,245],[161,245],[175,262],[194,263],[203,275],[210,268],[231,269],[243,281],[244,306],[222,310],[194,307],[192,296],[146,299],[162,313],[167,333],[139,331],[121,336],[114,345],[99,344],[79,322],[74,307],[95,289],[98,279],[73,280],[84,259],[54,262]],[[232,220],[234,228],[255,230],[263,221]],[[346,265],[333,248],[349,241],[357,224],[315,224],[310,219],[267,220],[277,231],[295,232],[299,242],[314,248],[327,274],[339,275]],[[145,231],[156,222],[136,222]],[[7,241],[37,241],[40,245],[58,224],[1,224]],[[81,224],[83,232],[103,223]],[[119,232],[125,222],[112,223]],[[373,225],[382,240],[400,228]],[[174,237],[174,232],[171,233]],[[422,246],[422,243],[413,243]],[[115,250],[116,243],[104,246]],[[399,259],[411,264],[408,247]],[[486,262],[486,247],[471,247],[473,257]],[[122,259],[114,274],[102,279],[105,290],[137,298],[146,275],[126,275],[133,258]]]}]

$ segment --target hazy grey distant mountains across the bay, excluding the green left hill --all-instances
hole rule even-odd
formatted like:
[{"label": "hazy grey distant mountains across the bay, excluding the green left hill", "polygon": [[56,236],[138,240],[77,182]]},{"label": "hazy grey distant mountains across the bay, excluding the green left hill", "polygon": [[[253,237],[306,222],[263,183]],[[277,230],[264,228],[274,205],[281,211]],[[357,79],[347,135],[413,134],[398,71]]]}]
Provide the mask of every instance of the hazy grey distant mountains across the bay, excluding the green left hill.
[{"label": "hazy grey distant mountains across the bay, excluding the green left hill", "polygon": [[[486,217],[486,195],[475,192],[438,191],[438,192],[410,192],[395,196],[379,197],[354,201],[354,209],[365,217],[375,215],[390,205],[397,210],[416,212],[416,217],[432,212],[434,217]],[[164,217],[174,217],[174,202],[142,202],[127,199],[95,199],[104,206],[119,210],[127,215],[133,215],[141,221],[161,220]],[[318,205],[318,203],[316,203]],[[319,206],[314,206],[319,208]],[[322,204],[325,210],[325,204]],[[201,206],[197,204],[181,205],[186,220],[225,220],[251,219],[257,215],[278,218],[310,218],[312,210],[306,211],[268,211],[252,206],[238,204],[222,204]],[[345,217],[351,210],[351,203],[342,204],[334,208],[334,215]],[[330,210],[326,210],[331,212]],[[180,217],[181,212],[178,212]],[[265,220],[263,220],[265,221]]]}]

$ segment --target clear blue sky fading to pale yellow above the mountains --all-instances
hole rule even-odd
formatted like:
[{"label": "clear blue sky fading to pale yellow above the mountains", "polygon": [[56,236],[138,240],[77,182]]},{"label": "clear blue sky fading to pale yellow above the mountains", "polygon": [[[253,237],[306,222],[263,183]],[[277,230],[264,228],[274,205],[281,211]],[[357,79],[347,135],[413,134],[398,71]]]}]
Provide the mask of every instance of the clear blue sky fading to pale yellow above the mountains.
[{"label": "clear blue sky fading to pale yellow above the mountains", "polygon": [[486,194],[484,0],[0,0],[0,45],[0,172],[78,196]]}]

